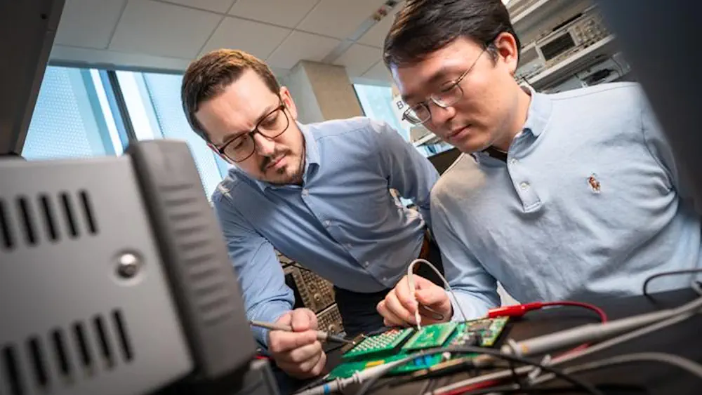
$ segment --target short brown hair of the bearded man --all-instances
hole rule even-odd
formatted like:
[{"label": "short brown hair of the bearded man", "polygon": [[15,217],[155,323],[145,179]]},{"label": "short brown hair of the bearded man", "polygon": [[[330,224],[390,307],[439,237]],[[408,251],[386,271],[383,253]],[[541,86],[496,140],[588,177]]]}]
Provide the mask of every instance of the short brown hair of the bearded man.
[{"label": "short brown hair of the bearded man", "polygon": [[234,49],[211,51],[190,63],[185,70],[183,83],[180,86],[183,112],[192,130],[204,140],[209,141],[207,132],[195,118],[199,105],[222,93],[247,69],[256,72],[272,93],[277,95],[280,92],[280,85],[270,67],[256,56],[244,51]]}]

